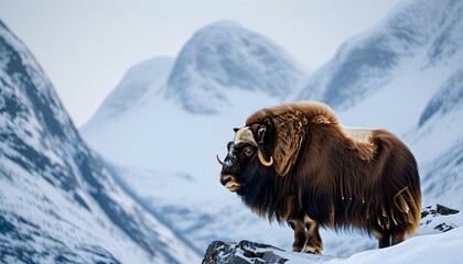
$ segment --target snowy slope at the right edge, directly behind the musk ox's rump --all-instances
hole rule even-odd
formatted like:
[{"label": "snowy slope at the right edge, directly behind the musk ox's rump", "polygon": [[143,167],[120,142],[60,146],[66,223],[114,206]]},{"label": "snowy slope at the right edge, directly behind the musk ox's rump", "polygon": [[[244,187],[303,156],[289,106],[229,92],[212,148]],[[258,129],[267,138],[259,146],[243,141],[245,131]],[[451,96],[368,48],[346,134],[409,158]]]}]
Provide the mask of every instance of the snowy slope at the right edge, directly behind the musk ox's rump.
[{"label": "snowy slope at the right edge, directly behind the musk ox's rump", "polygon": [[431,97],[407,139],[419,153],[426,201],[463,207],[463,66]]}]

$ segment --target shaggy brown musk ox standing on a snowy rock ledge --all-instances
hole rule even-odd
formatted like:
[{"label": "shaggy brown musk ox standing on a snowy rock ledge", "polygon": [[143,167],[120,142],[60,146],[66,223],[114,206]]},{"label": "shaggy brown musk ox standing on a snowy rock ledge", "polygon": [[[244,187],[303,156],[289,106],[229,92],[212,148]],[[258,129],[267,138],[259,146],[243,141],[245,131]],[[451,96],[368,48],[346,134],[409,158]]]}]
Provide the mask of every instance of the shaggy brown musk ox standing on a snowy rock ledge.
[{"label": "shaggy brown musk ox standing on a snowy rock ledge", "polygon": [[320,254],[319,227],[400,243],[420,220],[417,162],[385,130],[344,127],[320,102],[262,109],[235,129],[220,183],[254,212],[294,230],[293,251]]}]

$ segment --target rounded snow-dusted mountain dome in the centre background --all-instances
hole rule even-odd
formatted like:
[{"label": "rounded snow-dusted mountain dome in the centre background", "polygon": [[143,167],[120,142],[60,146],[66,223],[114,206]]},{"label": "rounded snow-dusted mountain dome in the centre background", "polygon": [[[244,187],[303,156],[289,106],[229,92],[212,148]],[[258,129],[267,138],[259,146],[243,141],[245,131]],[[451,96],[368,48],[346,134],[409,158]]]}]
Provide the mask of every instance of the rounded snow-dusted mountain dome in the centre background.
[{"label": "rounded snow-dusted mountain dome in the centre background", "polygon": [[304,77],[271,40],[222,21],[200,29],[184,45],[169,77],[166,97],[190,112],[223,112],[232,105],[225,90],[263,91],[282,100]]}]

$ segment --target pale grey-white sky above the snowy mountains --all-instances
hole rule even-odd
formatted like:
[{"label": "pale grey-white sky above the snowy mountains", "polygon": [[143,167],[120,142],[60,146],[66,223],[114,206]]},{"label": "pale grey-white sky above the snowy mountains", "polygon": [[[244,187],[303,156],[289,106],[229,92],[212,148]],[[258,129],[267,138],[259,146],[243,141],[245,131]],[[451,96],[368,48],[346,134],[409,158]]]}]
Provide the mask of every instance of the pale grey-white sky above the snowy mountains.
[{"label": "pale grey-white sky above the snowy mountains", "polygon": [[175,57],[200,28],[233,20],[316,69],[401,0],[0,0],[77,127],[133,65]]}]

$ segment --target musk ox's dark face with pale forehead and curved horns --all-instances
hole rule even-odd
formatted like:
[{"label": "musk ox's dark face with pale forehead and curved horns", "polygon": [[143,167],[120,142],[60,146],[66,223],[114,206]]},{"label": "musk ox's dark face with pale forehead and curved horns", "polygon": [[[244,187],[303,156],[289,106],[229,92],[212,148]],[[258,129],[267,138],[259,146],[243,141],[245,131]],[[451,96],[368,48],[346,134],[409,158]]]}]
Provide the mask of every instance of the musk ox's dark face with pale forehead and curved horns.
[{"label": "musk ox's dark face with pale forehead and curved horns", "polygon": [[217,155],[222,165],[220,183],[229,191],[243,193],[246,185],[256,177],[259,166],[272,166],[273,157],[269,154],[270,129],[266,124],[235,129],[235,138],[227,144],[228,153],[224,162]]}]

